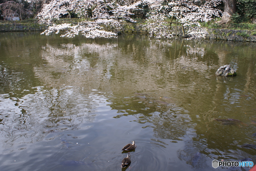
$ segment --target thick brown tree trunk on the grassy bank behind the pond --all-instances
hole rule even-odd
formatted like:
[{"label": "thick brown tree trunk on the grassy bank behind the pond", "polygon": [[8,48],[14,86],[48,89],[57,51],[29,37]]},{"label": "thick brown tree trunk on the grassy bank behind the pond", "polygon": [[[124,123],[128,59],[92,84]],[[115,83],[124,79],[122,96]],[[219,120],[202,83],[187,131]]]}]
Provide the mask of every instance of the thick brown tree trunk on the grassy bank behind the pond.
[{"label": "thick brown tree trunk on the grassy bank behind the pond", "polygon": [[221,20],[217,21],[218,24],[226,24],[230,21],[232,14],[236,12],[236,0],[223,0],[224,12]]}]

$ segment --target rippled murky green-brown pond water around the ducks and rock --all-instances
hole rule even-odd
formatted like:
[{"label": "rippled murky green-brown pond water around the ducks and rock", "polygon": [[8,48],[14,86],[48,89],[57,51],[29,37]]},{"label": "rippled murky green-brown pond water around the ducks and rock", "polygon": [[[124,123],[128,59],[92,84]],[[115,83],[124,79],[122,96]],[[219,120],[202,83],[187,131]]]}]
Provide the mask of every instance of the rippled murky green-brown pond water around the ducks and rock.
[{"label": "rippled murky green-brown pond water around the ducks and rock", "polygon": [[0,33],[2,171],[249,170],[255,100],[256,43]]}]

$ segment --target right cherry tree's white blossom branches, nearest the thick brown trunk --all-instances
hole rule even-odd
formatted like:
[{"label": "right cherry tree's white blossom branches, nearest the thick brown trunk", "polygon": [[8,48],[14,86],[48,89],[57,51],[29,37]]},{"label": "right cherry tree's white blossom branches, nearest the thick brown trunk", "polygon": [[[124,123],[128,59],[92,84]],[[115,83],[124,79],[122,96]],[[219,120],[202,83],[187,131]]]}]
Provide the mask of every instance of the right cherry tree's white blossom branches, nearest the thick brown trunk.
[{"label": "right cherry tree's white blossom branches, nearest the thick brown trunk", "polygon": [[[167,19],[175,17],[183,26],[200,26],[200,22],[208,22],[219,17],[221,11],[216,8],[220,0],[171,0],[163,3],[161,0],[151,0],[151,17],[148,18],[148,28],[156,37],[171,37]],[[191,30],[189,36],[204,37],[204,29]]]}]

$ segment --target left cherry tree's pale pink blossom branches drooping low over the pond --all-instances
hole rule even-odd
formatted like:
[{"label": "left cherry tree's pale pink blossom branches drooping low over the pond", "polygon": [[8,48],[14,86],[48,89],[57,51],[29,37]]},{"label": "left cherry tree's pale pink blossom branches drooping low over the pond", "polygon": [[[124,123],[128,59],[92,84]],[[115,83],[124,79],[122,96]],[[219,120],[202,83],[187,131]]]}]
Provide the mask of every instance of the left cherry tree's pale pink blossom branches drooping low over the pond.
[{"label": "left cherry tree's pale pink blossom branches drooping low over the pond", "polygon": [[[75,35],[82,34],[87,38],[110,38],[115,37],[116,33],[104,31],[102,25],[111,25],[117,28],[122,19],[134,22],[129,15],[131,15],[131,9],[136,9],[139,3],[105,0],[52,0],[44,6],[38,17],[41,23],[47,23],[49,26],[43,32],[46,35],[65,30],[65,33],[61,35],[62,37],[74,37]],[[56,24],[52,22],[54,19],[60,19],[61,15],[71,11],[78,14],[81,18],[88,16],[88,12],[91,11],[90,20],[72,24]]]}]

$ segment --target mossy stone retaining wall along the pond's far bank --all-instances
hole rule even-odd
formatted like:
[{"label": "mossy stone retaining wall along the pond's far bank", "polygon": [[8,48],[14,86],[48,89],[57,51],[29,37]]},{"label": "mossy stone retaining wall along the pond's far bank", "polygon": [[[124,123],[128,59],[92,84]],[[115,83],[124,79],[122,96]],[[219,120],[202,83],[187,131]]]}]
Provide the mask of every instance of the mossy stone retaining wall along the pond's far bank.
[{"label": "mossy stone retaining wall along the pond's far bank", "polygon": [[[133,23],[121,23],[118,29],[114,29],[111,26],[103,26],[105,30],[148,34],[151,29],[148,29],[144,24]],[[190,27],[191,29],[192,27]],[[44,31],[46,26],[38,23],[5,23],[0,24],[0,31]],[[193,27],[193,29],[204,29],[207,34],[206,38],[219,39],[219,40],[232,40],[232,41],[251,41],[256,42],[256,30],[230,30],[230,29],[213,29],[213,28],[201,28]],[[189,31],[185,29],[185,33]],[[176,34],[176,26],[172,26],[170,32],[173,36]],[[182,36],[182,27],[178,26],[177,36]]]}]

